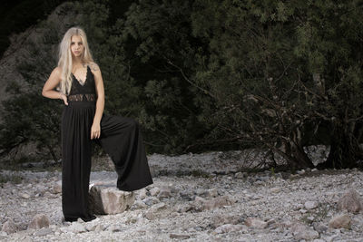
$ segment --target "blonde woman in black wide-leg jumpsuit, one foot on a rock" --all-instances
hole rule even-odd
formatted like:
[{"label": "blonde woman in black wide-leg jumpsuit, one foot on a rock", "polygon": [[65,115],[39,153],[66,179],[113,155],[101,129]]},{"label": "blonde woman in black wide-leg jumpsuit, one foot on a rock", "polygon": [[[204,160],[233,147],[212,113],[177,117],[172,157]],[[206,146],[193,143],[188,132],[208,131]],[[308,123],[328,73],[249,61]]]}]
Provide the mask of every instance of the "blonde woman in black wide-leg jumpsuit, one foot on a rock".
[{"label": "blonde woman in black wide-leg jumpsuit, one foot on a rock", "polygon": [[[117,188],[126,191],[152,184],[139,124],[103,114],[103,78],[93,62],[87,38],[70,28],[59,46],[59,62],[45,82],[43,96],[64,101],[62,113],[62,208],[65,221],[96,218],[89,209],[91,146],[96,142],[113,160]],[[59,92],[54,90],[57,87]]]}]

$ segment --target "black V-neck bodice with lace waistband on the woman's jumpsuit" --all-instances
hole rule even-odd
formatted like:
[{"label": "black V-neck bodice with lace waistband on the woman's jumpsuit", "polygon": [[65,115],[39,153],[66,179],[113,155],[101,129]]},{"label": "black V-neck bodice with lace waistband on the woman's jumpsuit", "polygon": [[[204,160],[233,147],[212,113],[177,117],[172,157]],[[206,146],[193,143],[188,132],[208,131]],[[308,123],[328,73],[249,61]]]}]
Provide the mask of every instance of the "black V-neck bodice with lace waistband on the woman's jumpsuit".
[{"label": "black V-neck bodice with lace waistband on the woman's jumpsuit", "polygon": [[82,83],[72,73],[72,87],[68,95],[71,102],[95,102],[97,95],[95,91],[94,77],[90,67],[87,65],[85,81]]}]

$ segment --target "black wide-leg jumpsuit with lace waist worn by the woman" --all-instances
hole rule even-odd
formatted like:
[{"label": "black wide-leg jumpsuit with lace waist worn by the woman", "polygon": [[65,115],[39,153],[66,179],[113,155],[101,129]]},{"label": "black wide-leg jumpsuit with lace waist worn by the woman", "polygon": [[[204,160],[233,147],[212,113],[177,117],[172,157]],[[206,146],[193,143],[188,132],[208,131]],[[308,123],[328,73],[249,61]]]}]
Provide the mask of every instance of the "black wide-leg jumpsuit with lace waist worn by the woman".
[{"label": "black wide-leg jumpsuit with lace waist worn by the woman", "polygon": [[137,121],[103,114],[101,136],[91,140],[96,100],[93,73],[87,66],[83,84],[73,75],[68,105],[64,105],[62,113],[62,208],[65,221],[96,218],[88,204],[93,141],[100,144],[113,160],[118,189],[132,191],[153,183]]}]

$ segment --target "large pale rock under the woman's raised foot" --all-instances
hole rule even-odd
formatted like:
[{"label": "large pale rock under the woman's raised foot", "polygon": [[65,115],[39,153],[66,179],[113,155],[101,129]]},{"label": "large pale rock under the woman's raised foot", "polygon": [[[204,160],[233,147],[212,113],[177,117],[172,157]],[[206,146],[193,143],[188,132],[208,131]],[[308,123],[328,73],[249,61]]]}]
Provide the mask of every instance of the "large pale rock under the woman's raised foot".
[{"label": "large pale rock under the woman's raised foot", "polygon": [[94,214],[123,213],[134,201],[134,192],[119,190],[112,185],[96,185],[90,189],[90,209]]}]

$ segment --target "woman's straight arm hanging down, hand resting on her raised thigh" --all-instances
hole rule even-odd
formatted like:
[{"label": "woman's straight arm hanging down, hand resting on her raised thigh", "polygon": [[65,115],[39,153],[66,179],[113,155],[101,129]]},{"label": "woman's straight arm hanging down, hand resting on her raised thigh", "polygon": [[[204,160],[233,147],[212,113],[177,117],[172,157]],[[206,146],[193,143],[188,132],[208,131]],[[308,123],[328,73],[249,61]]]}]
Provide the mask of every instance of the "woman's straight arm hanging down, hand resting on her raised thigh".
[{"label": "woman's straight arm hanging down, hand resting on her raised thigh", "polygon": [[102,78],[101,70],[96,63],[91,63],[90,67],[91,67],[91,70],[93,71],[94,84],[95,84],[96,93],[97,93],[96,112],[94,114],[93,125],[91,128],[91,139],[98,139],[101,136],[100,123],[101,123],[103,109],[104,109],[103,78]]}]

